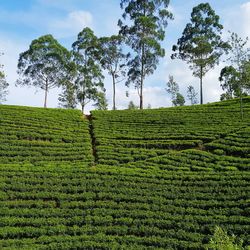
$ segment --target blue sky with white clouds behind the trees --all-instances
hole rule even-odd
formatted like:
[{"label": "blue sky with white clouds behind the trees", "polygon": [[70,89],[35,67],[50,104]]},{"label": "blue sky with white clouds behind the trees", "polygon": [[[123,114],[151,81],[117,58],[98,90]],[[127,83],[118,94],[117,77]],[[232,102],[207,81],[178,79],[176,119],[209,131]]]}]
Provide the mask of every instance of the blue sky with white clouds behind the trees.
[{"label": "blue sky with white clouds behind the trees", "polygon": [[[199,79],[192,76],[188,65],[181,60],[171,60],[171,48],[181,37],[183,29],[190,21],[194,6],[202,1],[170,0],[169,10],[174,20],[169,21],[162,47],[166,56],[160,60],[157,70],[146,78],[144,87],[144,106],[152,108],[171,106],[166,92],[169,75],[173,75],[180,86],[180,93],[186,96],[187,87],[193,85],[199,92]],[[207,1],[220,16],[224,26],[223,38],[229,37],[228,31],[236,32],[242,38],[250,37],[250,1],[247,0],[210,0]],[[5,104],[42,107],[44,93],[34,87],[17,87],[17,61],[19,54],[26,51],[33,39],[52,34],[63,46],[71,49],[77,34],[85,27],[95,34],[110,36],[117,34],[118,19],[121,18],[120,0],[0,0],[0,64],[4,65],[9,86]],[[204,78],[204,102],[219,101],[222,89],[218,81],[220,70],[226,62],[221,62],[210,70]],[[112,107],[111,78],[105,73],[105,88]],[[126,91],[129,97],[126,97]],[[60,89],[52,89],[48,95],[48,107],[58,107]],[[124,83],[117,85],[117,107],[125,109],[130,101],[139,104],[137,91]],[[186,104],[189,101],[186,100]],[[93,109],[91,104],[87,112]]]}]

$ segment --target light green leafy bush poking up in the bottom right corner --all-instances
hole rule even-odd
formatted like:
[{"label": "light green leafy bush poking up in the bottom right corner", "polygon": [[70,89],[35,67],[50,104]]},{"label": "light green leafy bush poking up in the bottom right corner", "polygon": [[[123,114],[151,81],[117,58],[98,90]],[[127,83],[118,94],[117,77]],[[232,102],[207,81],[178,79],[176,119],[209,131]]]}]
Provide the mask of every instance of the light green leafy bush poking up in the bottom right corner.
[{"label": "light green leafy bush poking up in the bottom right corner", "polygon": [[214,235],[209,242],[211,250],[244,250],[243,241],[237,240],[236,236],[229,236],[221,227],[216,226]]}]

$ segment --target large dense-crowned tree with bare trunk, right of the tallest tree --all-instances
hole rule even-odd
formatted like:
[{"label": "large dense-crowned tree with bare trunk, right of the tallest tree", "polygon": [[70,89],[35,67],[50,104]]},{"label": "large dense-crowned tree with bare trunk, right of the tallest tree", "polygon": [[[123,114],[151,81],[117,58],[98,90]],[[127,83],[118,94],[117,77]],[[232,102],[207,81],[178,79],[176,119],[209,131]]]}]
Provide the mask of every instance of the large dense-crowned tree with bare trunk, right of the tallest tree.
[{"label": "large dense-crowned tree with bare trunk, right of the tallest tree", "polygon": [[223,26],[219,16],[208,3],[193,8],[191,22],[188,23],[173,46],[171,58],[186,61],[195,77],[200,79],[200,103],[203,104],[203,77],[219,63],[222,54],[229,45],[221,39]]}]

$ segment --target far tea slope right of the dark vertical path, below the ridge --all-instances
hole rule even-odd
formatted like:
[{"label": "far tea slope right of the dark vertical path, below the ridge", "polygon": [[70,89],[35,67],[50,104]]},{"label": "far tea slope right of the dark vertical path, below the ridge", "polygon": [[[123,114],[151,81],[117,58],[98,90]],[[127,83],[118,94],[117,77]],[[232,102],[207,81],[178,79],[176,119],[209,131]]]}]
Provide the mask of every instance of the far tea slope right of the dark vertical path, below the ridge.
[{"label": "far tea slope right of the dark vertical path, below the ridge", "polygon": [[[151,165],[163,159],[169,169],[168,165],[173,164],[164,160],[167,156],[179,162],[174,164],[176,170],[178,166],[186,166],[179,158],[188,155],[190,159],[200,157],[202,161],[211,157],[215,162],[228,159],[228,167],[235,165],[231,156],[236,156],[235,161],[242,159],[245,165],[243,158],[250,158],[250,98],[245,98],[244,103],[243,120],[238,100],[143,111],[93,111],[97,162],[145,167],[148,161]],[[189,150],[183,151],[186,149]],[[191,162],[188,169],[196,163]],[[206,164],[203,170],[211,167],[216,168]]]}]

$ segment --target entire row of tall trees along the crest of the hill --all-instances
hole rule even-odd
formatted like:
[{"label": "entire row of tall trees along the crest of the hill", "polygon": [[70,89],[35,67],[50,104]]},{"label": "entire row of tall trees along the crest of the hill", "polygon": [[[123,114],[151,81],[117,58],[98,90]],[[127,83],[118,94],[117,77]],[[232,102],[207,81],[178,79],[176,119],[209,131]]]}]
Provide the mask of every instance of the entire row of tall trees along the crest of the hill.
[{"label": "entire row of tall trees along the crest of the hill", "polygon": [[[113,109],[116,109],[116,85],[119,82],[135,87],[139,108],[143,109],[144,83],[156,70],[160,58],[165,56],[161,42],[173,14],[168,9],[169,0],[121,0],[120,7],[123,15],[118,20],[119,32],[111,37],[98,38],[86,27],[78,34],[70,51],[52,35],[33,40],[29,49],[19,56],[20,77],[16,84],[44,90],[44,107],[47,107],[48,91],[61,86],[61,107],[76,108],[80,104],[84,112],[85,106],[92,101],[97,109],[107,109],[103,83],[103,72],[106,71],[112,78]],[[235,97],[242,100],[242,96],[249,94],[247,40],[231,33],[230,38],[223,41],[222,30],[219,16],[208,3],[201,3],[193,8],[190,22],[172,47],[171,58],[185,61],[193,75],[200,79],[200,104],[203,104],[203,78],[219,64],[223,55],[228,55],[229,65],[219,76],[225,91],[221,100]],[[0,86],[4,86],[2,82]],[[4,93],[1,88],[0,93]],[[173,105],[184,105],[179,85],[171,75],[166,91],[171,95]],[[198,93],[191,85],[187,96],[191,104],[197,103]]]}]

